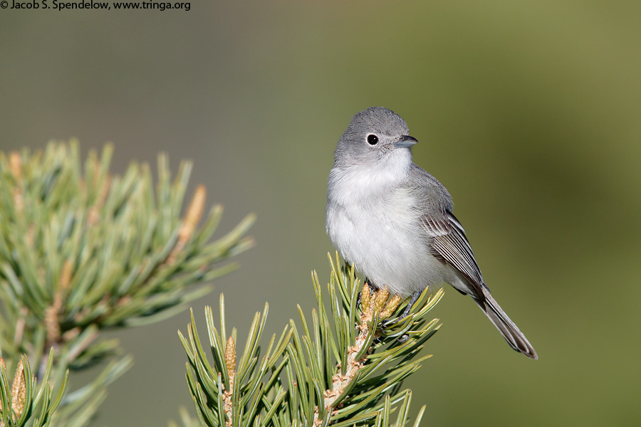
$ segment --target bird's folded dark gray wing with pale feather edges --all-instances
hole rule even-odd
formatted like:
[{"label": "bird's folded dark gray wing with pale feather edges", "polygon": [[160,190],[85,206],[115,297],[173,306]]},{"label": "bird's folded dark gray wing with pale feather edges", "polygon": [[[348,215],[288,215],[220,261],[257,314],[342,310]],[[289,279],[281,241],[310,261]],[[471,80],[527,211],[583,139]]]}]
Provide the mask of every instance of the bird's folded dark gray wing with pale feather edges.
[{"label": "bird's folded dark gray wing with pale feather edges", "polygon": [[474,252],[465,236],[465,230],[452,211],[446,209],[443,215],[424,215],[421,218],[424,231],[432,237],[429,249],[437,259],[456,268],[471,287],[482,295],[483,276],[474,259]]}]

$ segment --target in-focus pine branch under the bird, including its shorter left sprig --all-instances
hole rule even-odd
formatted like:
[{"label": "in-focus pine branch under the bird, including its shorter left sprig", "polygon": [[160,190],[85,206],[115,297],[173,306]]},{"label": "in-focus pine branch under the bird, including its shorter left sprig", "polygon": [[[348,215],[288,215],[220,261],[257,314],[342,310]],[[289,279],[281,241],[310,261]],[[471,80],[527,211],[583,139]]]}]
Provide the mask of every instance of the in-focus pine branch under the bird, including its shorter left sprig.
[{"label": "in-focus pine branch under the bird, including its shorter left sprig", "polygon": [[256,314],[247,340],[244,359],[254,362],[241,362],[236,370],[229,344],[235,342],[235,330],[223,344],[223,297],[220,334],[212,309],[206,309],[214,364],[202,349],[192,315],[189,339],[179,336],[189,359],[187,384],[204,426],[405,426],[412,392],[401,390],[402,381],[429,357],[416,358],[439,329],[438,320],[426,315],[443,291],[429,295],[426,289],[409,315],[399,319],[407,301],[387,290],[361,287],[353,266],[338,270],[338,254],[335,261],[330,257],[330,265],[328,295],[312,275],[318,307],[311,324],[298,307],[301,328],[291,321],[275,347],[273,336],[259,365],[267,310],[260,321]]}]

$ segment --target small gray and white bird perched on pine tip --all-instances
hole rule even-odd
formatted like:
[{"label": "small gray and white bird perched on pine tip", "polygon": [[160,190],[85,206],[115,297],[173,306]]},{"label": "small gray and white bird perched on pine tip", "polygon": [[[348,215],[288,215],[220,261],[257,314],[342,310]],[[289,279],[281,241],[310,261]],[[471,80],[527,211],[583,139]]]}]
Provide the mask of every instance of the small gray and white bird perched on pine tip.
[{"label": "small gray and white bird perched on pine tip", "polygon": [[452,196],[412,162],[405,120],[371,107],[352,117],[335,151],[327,194],[327,233],[370,284],[415,302],[426,286],[449,283],[474,298],[517,352],[538,359],[494,300],[476,265]]}]

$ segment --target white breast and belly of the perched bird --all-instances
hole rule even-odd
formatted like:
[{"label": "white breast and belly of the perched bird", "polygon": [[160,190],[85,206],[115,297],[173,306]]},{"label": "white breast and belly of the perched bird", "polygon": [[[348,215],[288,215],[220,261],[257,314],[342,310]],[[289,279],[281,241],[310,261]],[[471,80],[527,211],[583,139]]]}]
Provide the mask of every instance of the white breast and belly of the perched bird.
[{"label": "white breast and belly of the perched bird", "polygon": [[409,295],[440,283],[445,272],[429,255],[416,196],[402,185],[409,164],[397,160],[381,169],[333,169],[327,230],[343,257],[375,285]]}]

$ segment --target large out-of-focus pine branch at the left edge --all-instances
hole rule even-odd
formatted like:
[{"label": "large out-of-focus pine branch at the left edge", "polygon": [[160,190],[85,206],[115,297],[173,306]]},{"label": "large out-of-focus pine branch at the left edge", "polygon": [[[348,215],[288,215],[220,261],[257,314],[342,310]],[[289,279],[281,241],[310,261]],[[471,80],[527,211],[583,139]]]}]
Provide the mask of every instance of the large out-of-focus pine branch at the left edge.
[{"label": "large out-of-focus pine branch at the left edge", "polygon": [[198,186],[185,214],[190,162],[172,179],[164,154],[158,182],[147,164],[123,176],[109,172],[113,147],[80,161],[78,144],[48,144],[43,152],[0,152],[0,348],[7,360],[26,353],[51,381],[67,369],[110,360],[98,377],[67,394],[60,425],[85,425],[105,388],[132,364],[116,340],[100,331],[147,325],[184,310],[210,292],[198,286],[230,273],[220,265],[254,245],[247,216],[210,241],[222,216],[214,206],[202,226],[206,191]]}]

